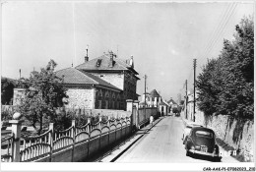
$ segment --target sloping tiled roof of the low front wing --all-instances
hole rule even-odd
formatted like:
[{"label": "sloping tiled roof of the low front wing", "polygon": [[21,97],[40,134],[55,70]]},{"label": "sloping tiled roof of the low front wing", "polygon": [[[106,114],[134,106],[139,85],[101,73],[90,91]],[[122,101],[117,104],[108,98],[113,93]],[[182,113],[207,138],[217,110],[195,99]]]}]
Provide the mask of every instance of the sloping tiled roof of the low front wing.
[{"label": "sloping tiled roof of the low front wing", "polygon": [[67,85],[100,85],[121,90],[118,87],[113,86],[92,74],[89,74],[87,72],[81,72],[75,68],[66,68],[57,71],[56,76],[59,78],[63,78],[64,84]]}]

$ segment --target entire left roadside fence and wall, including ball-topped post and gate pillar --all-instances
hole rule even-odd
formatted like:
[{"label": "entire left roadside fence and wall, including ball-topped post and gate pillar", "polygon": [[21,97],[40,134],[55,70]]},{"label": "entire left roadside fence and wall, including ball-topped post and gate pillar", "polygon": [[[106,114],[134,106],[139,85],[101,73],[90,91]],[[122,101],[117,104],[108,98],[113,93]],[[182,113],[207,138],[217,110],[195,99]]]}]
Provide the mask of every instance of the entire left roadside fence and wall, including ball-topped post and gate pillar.
[{"label": "entire left roadside fence and wall, including ball-topped post and gate pillar", "polygon": [[[116,142],[121,136],[126,136],[129,131],[132,131],[133,127],[140,128],[148,122],[151,115],[157,114],[157,108],[146,108],[145,114],[145,110],[139,109],[138,100],[126,101],[126,111],[91,109],[86,112],[84,110],[85,114],[91,114],[91,117],[96,117],[96,114],[110,114],[103,121],[99,116],[96,124],[92,124],[91,118],[88,118],[86,125],[76,126],[73,120],[70,128],[56,131],[50,123],[49,130],[36,137],[21,136],[22,121],[11,120],[9,122],[12,124],[12,137],[2,139],[1,143],[5,146],[1,148],[1,159],[5,162],[28,162],[40,159],[54,161],[54,154],[68,149],[68,151],[71,150],[71,161],[73,161],[74,151],[77,152],[76,147],[85,145],[88,149],[87,153],[90,154],[93,152],[90,147],[94,140],[96,140],[96,147],[92,146],[94,149]],[[113,118],[110,119],[109,116]]]}]

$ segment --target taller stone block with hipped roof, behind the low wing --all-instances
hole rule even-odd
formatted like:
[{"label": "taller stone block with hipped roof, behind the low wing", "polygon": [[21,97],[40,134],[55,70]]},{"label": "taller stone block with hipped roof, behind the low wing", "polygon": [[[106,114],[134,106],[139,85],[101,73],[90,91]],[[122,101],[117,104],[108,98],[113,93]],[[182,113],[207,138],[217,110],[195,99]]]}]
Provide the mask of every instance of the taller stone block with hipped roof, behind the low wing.
[{"label": "taller stone block with hipped roof, behind the low wing", "polygon": [[[140,79],[134,69],[133,57],[124,61],[110,51],[90,61],[88,57],[85,58],[85,63],[77,66],[76,69],[119,88],[121,90],[118,101],[120,109],[126,109],[126,99],[138,99],[136,89],[137,81]],[[96,105],[100,105],[99,101],[98,99]]]}]

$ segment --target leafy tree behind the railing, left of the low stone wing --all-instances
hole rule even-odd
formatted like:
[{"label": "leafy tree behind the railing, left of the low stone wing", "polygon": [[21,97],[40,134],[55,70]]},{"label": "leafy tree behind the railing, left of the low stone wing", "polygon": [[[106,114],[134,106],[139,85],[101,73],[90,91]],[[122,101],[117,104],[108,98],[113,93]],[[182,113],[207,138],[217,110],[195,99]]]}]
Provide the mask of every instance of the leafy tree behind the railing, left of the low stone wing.
[{"label": "leafy tree behind the railing, left of the low stone wing", "polygon": [[29,79],[19,81],[20,86],[26,89],[19,111],[32,123],[38,134],[44,124],[57,119],[55,107],[63,106],[62,98],[67,97],[66,89],[62,86],[63,79],[54,73],[56,65],[50,60],[40,72],[33,71]]}]

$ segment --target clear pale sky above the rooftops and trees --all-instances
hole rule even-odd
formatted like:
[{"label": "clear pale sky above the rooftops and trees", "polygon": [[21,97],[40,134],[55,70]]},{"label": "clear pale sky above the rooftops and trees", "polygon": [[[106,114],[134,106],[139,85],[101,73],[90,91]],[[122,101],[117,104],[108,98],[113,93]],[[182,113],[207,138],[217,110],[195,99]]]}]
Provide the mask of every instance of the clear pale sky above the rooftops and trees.
[{"label": "clear pale sky above the rooftops and trees", "polygon": [[2,3],[1,76],[29,77],[50,59],[57,69],[84,63],[112,50],[134,58],[141,79],[137,93],[157,89],[165,100],[193,87],[207,59],[217,58],[235,25],[254,16],[254,4],[240,2],[7,1]]}]

